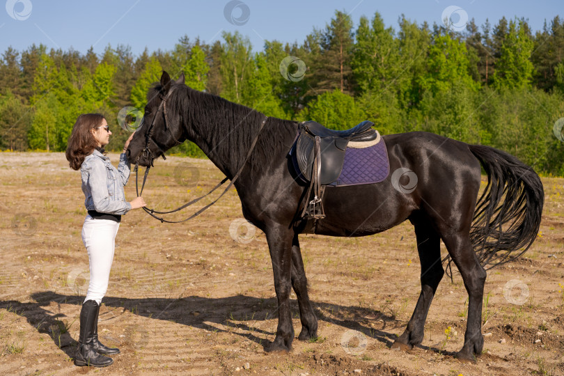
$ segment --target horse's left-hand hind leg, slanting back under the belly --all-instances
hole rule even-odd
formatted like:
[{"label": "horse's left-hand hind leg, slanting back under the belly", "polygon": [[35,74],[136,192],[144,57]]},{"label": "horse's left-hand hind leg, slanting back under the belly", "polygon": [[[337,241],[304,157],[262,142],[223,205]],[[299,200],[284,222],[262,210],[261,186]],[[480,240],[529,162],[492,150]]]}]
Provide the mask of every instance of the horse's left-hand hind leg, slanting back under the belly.
[{"label": "horse's left-hand hind leg, slanting back under the belly", "polygon": [[425,320],[437,286],[443,278],[444,270],[441,265],[440,237],[430,224],[415,224],[417,237],[417,251],[421,262],[421,294],[413,311],[407,328],[399,336],[392,349],[409,350],[423,341]]}]

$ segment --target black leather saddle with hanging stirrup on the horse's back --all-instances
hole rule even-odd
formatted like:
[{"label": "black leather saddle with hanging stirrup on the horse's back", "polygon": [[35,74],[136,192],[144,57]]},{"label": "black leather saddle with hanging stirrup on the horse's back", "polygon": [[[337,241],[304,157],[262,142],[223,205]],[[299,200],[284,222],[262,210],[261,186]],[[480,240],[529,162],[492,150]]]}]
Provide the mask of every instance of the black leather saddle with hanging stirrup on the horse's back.
[{"label": "black leather saddle with hanging stirrup on the horse's back", "polygon": [[[324,186],[335,182],[343,170],[345,150],[368,148],[378,143],[380,135],[372,129],[374,123],[365,120],[350,130],[329,130],[315,121],[298,126],[298,137],[292,148],[293,160],[300,177],[309,183],[308,204],[301,217],[322,219],[325,217],[321,198]],[[313,189],[313,199],[311,191]]]}]

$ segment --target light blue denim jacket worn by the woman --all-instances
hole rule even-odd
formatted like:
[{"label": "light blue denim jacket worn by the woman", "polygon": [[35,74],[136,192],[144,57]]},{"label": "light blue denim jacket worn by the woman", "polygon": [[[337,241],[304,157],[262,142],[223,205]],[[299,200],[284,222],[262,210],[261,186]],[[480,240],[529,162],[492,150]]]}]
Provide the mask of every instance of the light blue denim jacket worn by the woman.
[{"label": "light blue denim jacket worn by the woman", "polygon": [[131,210],[131,204],[125,201],[123,191],[130,178],[130,162],[125,153],[120,155],[120,163],[116,169],[109,157],[94,150],[84,158],[80,173],[82,191],[86,197],[86,210],[108,214],[125,214]]}]

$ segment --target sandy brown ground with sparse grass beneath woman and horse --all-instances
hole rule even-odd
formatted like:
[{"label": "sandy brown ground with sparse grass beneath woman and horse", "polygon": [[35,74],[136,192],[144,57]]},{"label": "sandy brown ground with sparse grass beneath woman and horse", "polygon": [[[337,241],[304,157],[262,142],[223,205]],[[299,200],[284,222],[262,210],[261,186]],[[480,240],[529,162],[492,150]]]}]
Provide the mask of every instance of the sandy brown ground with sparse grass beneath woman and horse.
[{"label": "sandy brown ground with sparse grass beneath woman and horse", "polygon": [[[209,161],[170,157],[156,162],[143,196],[171,209],[222,177]],[[185,224],[140,210],[123,217],[99,325],[122,354],[94,369],[72,363],[88,286],[80,175],[62,153],[1,153],[0,375],[564,375],[564,179],[543,183],[535,244],[488,272],[476,364],[453,358],[467,315],[457,274],[439,285],[422,345],[389,349],[420,291],[409,223],[372,237],[302,236],[320,338],[265,353],[277,323],[272,267],[233,190]],[[135,196],[134,175],[126,196]],[[297,336],[295,295],[292,317]]]}]

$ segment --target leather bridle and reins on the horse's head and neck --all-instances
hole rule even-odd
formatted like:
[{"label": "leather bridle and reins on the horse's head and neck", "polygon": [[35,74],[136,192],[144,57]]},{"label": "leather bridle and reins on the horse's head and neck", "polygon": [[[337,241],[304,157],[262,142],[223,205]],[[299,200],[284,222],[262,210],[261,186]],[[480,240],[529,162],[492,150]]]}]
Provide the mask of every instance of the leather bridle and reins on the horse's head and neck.
[{"label": "leather bridle and reins on the horse's head and neck", "polygon": [[[143,188],[145,187],[145,182],[147,181],[147,175],[149,174],[149,169],[152,167],[152,161],[155,159],[155,155],[152,154],[152,152],[149,149],[149,144],[152,141],[152,143],[155,144],[155,146],[157,146],[157,148],[159,149],[159,152],[161,154],[161,156],[163,157],[163,159],[166,159],[166,157],[164,157],[164,151],[162,150],[162,148],[151,139],[152,136],[152,131],[153,131],[153,125],[155,124],[155,119],[157,118],[157,116],[159,116],[159,111],[163,112],[164,115],[164,127],[165,129],[169,130],[169,134],[171,134],[171,137],[173,138],[173,140],[175,141],[176,145],[180,145],[182,142],[178,141],[176,139],[176,137],[173,135],[173,132],[171,131],[171,127],[169,127],[167,125],[167,123],[169,123],[169,119],[168,116],[166,115],[166,100],[169,98],[169,96],[171,95],[172,90],[169,91],[168,94],[166,94],[165,97],[163,97],[162,95],[159,95],[159,97],[161,98],[162,102],[161,104],[159,104],[159,108],[157,109],[157,113],[155,113],[155,117],[152,118],[152,122],[151,125],[149,127],[149,130],[147,132],[146,135],[146,143],[145,143],[145,148],[143,149],[143,151],[139,154],[139,157],[137,157],[137,161],[135,162],[135,191],[137,193],[137,197],[141,196],[141,194],[143,194]],[[200,210],[198,210],[197,212],[195,212],[194,214],[192,214],[190,217],[186,218],[186,219],[182,219],[182,221],[169,221],[166,220],[162,217],[158,217],[155,214],[170,214],[173,212],[178,212],[179,210],[184,209],[185,207],[188,207],[194,203],[197,203],[198,201],[200,201],[202,198],[209,196],[210,194],[212,194],[213,191],[215,191],[216,189],[218,189],[219,187],[221,187],[221,185],[224,185],[224,183],[228,180],[228,178],[224,178],[223,180],[221,180],[221,182],[219,182],[215,187],[212,188],[212,190],[210,190],[209,192],[207,192],[207,194],[200,196],[198,198],[194,198],[194,200],[189,201],[188,203],[185,203],[184,205],[177,207],[174,210],[169,210],[167,212],[159,212],[157,210],[154,209],[150,209],[148,207],[143,207],[143,210],[145,210],[145,212],[147,214],[149,214],[151,217],[158,219],[159,221],[161,221],[161,223],[166,222],[168,224],[179,224],[181,222],[185,222],[185,221],[189,221],[190,219],[193,219],[194,217],[197,217],[198,215],[200,215],[202,212],[204,212],[208,207],[214,205],[214,203],[217,203],[217,201],[219,200],[219,198],[221,198],[222,196],[224,196],[224,194],[227,193],[227,191],[230,189],[230,187],[233,187],[233,184],[235,184],[235,180],[237,180],[237,178],[239,178],[241,172],[244,169],[244,166],[246,165],[246,162],[249,160],[249,157],[251,157],[251,153],[253,152],[255,146],[256,146],[256,142],[258,141],[258,136],[260,135],[260,131],[263,130],[263,127],[265,126],[265,123],[267,122],[268,117],[265,116],[264,120],[262,123],[260,123],[260,127],[258,128],[258,132],[256,133],[255,138],[253,139],[253,142],[251,143],[251,148],[249,148],[249,152],[247,152],[246,157],[241,165],[241,167],[239,168],[239,171],[237,171],[237,173],[235,174],[235,176],[233,176],[233,179],[231,179],[229,185],[226,187],[226,189],[219,195],[218,198],[216,198],[214,201],[212,201],[212,203],[209,203],[207,205],[205,205],[204,207],[202,207]],[[139,160],[141,159],[141,155],[144,155],[146,158],[148,158],[150,160],[150,166],[147,166],[147,168],[145,169],[145,175],[143,176],[143,185],[141,185],[141,191],[139,191],[139,185],[138,185],[138,171],[139,171]],[[157,156],[158,157],[158,156]]]}]

